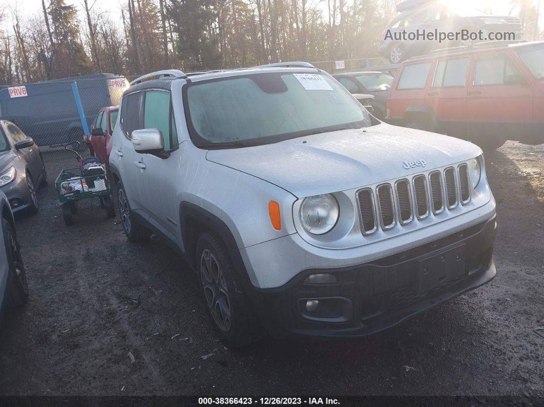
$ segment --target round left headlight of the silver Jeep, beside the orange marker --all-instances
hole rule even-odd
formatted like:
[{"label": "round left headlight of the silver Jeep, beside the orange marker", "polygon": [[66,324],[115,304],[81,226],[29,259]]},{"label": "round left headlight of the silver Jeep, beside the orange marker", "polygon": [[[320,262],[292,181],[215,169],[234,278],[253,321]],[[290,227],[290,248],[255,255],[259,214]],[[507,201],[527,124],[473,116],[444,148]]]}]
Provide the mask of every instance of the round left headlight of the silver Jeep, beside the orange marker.
[{"label": "round left headlight of the silver Jeep, beside the orange marker", "polygon": [[330,193],[305,198],[300,205],[302,226],[313,235],[323,235],[335,227],[339,213],[338,202]]}]

